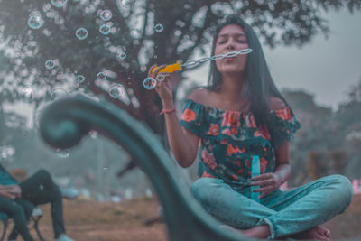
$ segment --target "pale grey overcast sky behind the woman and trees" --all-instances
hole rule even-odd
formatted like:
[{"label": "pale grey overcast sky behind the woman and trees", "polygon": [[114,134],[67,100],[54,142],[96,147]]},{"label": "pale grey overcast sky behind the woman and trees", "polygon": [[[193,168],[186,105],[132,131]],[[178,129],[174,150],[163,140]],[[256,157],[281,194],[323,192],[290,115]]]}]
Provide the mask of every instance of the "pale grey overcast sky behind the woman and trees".
[{"label": "pale grey overcast sky behind the woman and trees", "polygon": [[[319,34],[301,49],[264,47],[264,54],[278,88],[304,89],[317,104],[336,109],[361,78],[361,13],[345,10],[325,18],[331,30],[328,40]],[[187,76],[206,84],[208,65]]]}]

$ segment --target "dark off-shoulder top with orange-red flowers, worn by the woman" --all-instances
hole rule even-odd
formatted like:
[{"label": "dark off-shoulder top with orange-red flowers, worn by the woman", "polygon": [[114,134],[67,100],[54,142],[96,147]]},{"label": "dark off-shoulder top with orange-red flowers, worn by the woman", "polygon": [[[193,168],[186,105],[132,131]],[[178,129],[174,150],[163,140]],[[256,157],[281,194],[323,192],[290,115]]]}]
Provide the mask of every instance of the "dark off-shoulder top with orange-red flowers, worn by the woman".
[{"label": "dark off-shoulder top with orange-red flowers, worn by the woman", "polygon": [[207,107],[185,101],[180,125],[200,137],[199,177],[218,178],[234,190],[250,187],[252,156],[258,155],[261,173],[275,171],[274,147],[291,140],[301,127],[289,107],[269,112],[272,130],[255,125],[251,112]]}]

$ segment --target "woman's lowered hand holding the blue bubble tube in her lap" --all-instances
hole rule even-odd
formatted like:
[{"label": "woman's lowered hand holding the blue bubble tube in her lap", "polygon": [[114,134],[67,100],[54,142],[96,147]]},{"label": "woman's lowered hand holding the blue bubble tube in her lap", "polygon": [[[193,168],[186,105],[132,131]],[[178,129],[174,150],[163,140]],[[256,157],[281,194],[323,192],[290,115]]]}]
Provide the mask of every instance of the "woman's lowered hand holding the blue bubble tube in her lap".
[{"label": "woman's lowered hand holding the blue bubble tube in her lap", "polygon": [[273,173],[264,173],[252,178],[252,186],[260,186],[259,189],[255,189],[254,192],[261,192],[261,195],[258,199],[262,199],[265,196],[273,193],[274,190],[277,190],[281,185],[281,178]]}]

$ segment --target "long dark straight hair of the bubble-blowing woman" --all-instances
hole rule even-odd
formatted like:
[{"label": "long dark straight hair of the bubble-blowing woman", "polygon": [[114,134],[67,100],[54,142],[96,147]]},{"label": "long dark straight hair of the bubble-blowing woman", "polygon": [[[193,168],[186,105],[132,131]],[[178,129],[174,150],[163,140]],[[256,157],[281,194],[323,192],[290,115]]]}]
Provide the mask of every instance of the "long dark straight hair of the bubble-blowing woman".
[{"label": "long dark straight hair of the bubble-blowing woman", "polygon": [[[264,51],[262,51],[261,43],[259,42],[252,27],[245,23],[245,21],[243,21],[238,15],[233,14],[227,16],[225,21],[220,23],[216,29],[213,37],[211,56],[215,55],[216,42],[219,32],[223,27],[229,24],[236,24],[242,27],[245,31],[249,48],[253,50],[250,54],[248,54],[241,98],[245,96],[247,97],[246,103],[249,104],[249,110],[255,116],[256,125],[271,127],[269,125],[269,115],[267,115],[270,111],[270,97],[279,97],[287,107],[289,107],[289,105],[273,83],[273,79],[264,58]],[[214,91],[221,83],[222,75],[217,69],[216,61],[211,61],[208,76],[208,89]]]}]

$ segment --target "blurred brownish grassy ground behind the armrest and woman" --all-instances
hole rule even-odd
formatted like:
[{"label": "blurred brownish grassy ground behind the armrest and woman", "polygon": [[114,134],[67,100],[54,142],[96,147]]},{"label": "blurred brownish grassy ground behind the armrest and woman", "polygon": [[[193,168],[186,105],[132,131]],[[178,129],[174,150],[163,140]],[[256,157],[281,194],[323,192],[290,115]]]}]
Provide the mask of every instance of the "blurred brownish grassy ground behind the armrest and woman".
[{"label": "blurred brownish grassy ground behind the armrest and woman", "polygon": [[[53,240],[49,206],[43,206],[41,232]],[[64,218],[69,236],[78,241],[165,241],[165,226],[144,222],[158,214],[156,199],[125,200],[121,203],[99,203],[77,199],[64,201]],[[361,195],[352,199],[345,213],[333,218],[325,227],[331,229],[331,240],[361,240]],[[32,234],[35,232],[32,229]],[[20,240],[20,237],[18,238]]]}]

